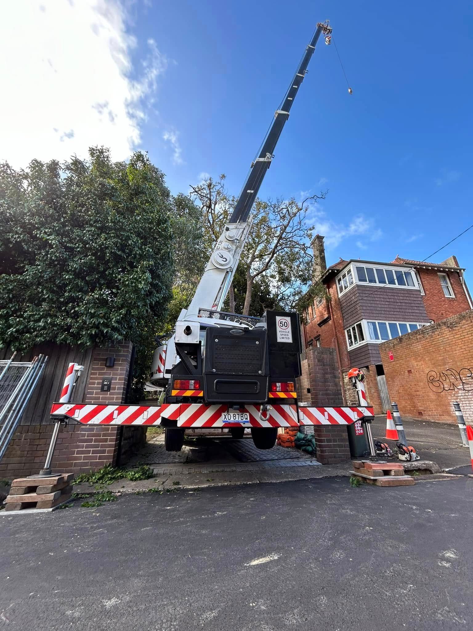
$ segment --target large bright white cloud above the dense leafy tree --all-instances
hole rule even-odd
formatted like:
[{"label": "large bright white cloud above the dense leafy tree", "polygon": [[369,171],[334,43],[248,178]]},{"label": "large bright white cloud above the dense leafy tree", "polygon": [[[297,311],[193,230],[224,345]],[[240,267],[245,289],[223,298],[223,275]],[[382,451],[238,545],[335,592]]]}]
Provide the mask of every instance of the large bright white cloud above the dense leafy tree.
[{"label": "large bright white cloud above the dense leafy tree", "polygon": [[[26,8],[27,4],[27,8]],[[125,5],[127,6],[127,5]],[[139,147],[141,124],[168,61],[137,42],[118,0],[42,0],[3,6],[0,22],[0,160],[63,160],[110,147],[124,160]]]}]

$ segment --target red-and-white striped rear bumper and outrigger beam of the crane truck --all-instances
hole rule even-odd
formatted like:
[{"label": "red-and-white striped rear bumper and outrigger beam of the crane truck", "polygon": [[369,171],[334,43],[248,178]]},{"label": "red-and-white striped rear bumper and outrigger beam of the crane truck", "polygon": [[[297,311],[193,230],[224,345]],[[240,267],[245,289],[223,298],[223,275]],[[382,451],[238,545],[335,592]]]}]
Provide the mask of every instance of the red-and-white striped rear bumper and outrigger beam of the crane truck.
[{"label": "red-and-white striped rear bumper and outrigger beam of the crane truck", "polygon": [[[373,408],[297,408],[296,404],[271,403],[261,420],[259,405],[245,405],[249,423],[225,423],[228,404],[164,403],[160,406],[99,405],[95,403],[54,403],[52,416],[66,416],[83,425],[168,425],[173,427],[298,427],[299,425],[349,425]],[[299,412],[299,413],[298,413]],[[168,425],[169,426],[169,425]]]}]

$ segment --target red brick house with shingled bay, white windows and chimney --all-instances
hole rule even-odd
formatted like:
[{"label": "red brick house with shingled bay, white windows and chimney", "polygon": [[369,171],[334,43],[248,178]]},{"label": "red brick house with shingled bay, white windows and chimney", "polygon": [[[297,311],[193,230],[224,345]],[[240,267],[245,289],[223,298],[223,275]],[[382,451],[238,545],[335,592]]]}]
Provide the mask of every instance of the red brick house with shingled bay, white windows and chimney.
[{"label": "red brick house with shingled bay, white windows and chimney", "polygon": [[383,413],[390,398],[379,345],[471,310],[464,269],[454,256],[438,264],[399,256],[391,262],[340,259],[327,268],[324,237],[317,235],[312,248],[313,278],[329,298],[316,298],[305,310],[305,345],[336,349],[347,404],[357,401],[346,373],[363,368],[368,401]]}]

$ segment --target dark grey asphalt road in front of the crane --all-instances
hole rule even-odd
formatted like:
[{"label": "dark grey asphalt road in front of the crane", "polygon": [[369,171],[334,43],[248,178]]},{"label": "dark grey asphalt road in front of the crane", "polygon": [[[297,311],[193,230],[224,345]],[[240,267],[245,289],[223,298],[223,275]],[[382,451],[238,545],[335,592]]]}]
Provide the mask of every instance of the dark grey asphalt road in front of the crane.
[{"label": "dark grey asphalt road in front of the crane", "polygon": [[0,627],[472,628],[473,479],[347,478],[0,516]]}]

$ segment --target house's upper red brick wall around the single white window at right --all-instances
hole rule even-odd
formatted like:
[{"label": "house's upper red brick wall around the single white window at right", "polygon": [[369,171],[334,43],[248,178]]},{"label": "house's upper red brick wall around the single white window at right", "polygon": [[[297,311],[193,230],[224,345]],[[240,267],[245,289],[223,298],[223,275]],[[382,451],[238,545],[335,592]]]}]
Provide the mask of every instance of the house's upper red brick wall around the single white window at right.
[{"label": "house's upper red brick wall around the single white window at right", "polygon": [[424,288],[423,296],[425,310],[429,319],[434,322],[443,320],[451,315],[463,313],[470,309],[465,290],[457,272],[445,272],[452,285],[455,298],[447,298],[440,285],[440,278],[435,269],[418,269]]}]

